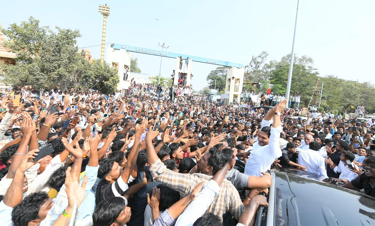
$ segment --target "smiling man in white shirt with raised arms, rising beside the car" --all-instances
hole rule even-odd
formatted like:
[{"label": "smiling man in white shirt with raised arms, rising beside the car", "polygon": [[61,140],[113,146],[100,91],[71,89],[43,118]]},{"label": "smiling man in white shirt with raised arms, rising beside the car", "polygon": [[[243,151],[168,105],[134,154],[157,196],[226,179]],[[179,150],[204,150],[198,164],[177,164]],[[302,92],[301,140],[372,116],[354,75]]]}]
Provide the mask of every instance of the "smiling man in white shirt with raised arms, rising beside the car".
[{"label": "smiling man in white shirt with raised arms, rising beside the car", "polygon": [[[287,101],[282,101],[271,109],[262,120],[262,129],[258,135],[258,142],[253,144],[253,150],[245,165],[245,174],[261,176],[261,172],[270,170],[275,159],[282,156],[279,138],[282,132],[280,123],[281,112],[284,111]],[[272,128],[269,125],[272,123]]]}]

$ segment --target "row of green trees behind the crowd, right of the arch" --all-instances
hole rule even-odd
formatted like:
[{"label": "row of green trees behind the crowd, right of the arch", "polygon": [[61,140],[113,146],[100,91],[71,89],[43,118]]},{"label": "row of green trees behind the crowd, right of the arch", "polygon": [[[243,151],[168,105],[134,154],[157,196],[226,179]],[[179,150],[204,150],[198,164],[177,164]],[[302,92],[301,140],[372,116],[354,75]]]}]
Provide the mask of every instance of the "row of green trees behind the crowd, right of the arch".
[{"label": "row of green trees behind the crowd, right of the arch", "polygon": [[[267,57],[267,52],[261,52],[258,56],[253,56],[251,62],[245,66],[246,73],[251,82],[263,84],[259,87],[260,92],[266,92],[270,83],[274,94],[285,94],[291,54],[285,55],[279,61],[272,60],[268,63]],[[339,79],[333,75],[324,77],[318,75],[318,70],[314,68],[314,60],[311,57],[294,56],[291,94],[301,94],[300,106],[307,107],[310,100],[312,100],[311,104],[315,103],[315,88],[318,79],[320,79],[318,95],[324,81],[321,109],[354,112],[357,104],[360,104],[365,107],[367,112],[375,112],[374,84]],[[244,86],[243,89],[248,90],[248,88]]]}]

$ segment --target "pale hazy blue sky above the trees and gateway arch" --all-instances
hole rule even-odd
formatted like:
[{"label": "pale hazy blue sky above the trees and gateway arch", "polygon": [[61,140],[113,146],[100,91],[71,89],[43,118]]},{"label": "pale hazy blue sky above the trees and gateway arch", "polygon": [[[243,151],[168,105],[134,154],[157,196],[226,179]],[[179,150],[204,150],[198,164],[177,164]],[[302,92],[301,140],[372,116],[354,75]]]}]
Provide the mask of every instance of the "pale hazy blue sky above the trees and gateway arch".
[{"label": "pale hazy blue sky above the trees and gateway arch", "polygon": [[[262,51],[269,53],[267,61],[291,52],[297,0],[0,0],[0,21],[7,28],[33,16],[51,28],[78,29],[78,46],[92,46],[93,58],[100,58],[98,6],[106,3],[111,7],[106,43],[161,50],[158,43],[164,42],[168,52],[243,65]],[[300,0],[295,54],[313,58],[320,76],[375,84],[374,9],[374,0]],[[142,73],[159,73],[160,57],[132,57],[138,57]],[[170,77],[174,66],[175,59],[163,58],[162,76]],[[207,86],[216,67],[193,62],[193,88]]]}]

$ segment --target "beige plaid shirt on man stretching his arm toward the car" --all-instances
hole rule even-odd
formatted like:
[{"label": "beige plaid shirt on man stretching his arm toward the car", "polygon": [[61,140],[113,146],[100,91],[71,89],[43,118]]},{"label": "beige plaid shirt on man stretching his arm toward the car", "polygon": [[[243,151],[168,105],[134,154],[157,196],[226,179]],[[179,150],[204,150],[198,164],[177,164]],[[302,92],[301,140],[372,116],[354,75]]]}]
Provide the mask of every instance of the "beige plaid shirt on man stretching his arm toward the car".
[{"label": "beige plaid shirt on man stretching his arm toward the car", "polygon": [[[154,181],[161,182],[180,193],[181,197],[191,193],[195,186],[202,181],[208,181],[212,176],[195,173],[195,174],[181,174],[168,170],[166,166],[157,159],[150,167],[151,175]],[[245,211],[245,206],[242,204],[240,195],[233,184],[224,179],[220,186],[219,195],[216,195],[213,203],[208,207],[207,212],[216,214],[222,219],[223,214],[229,211],[237,220],[240,219],[241,214]]]}]

